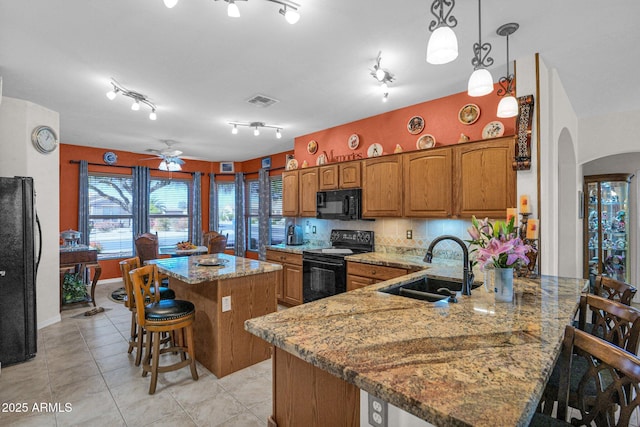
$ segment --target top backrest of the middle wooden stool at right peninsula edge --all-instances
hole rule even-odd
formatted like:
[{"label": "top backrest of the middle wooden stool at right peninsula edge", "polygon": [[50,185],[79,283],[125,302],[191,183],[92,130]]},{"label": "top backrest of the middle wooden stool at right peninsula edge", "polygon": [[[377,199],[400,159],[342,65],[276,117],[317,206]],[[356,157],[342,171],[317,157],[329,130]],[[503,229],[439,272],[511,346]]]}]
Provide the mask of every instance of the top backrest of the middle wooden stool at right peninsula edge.
[{"label": "top backrest of the middle wooden stool at right peninsula edge", "polygon": [[[587,314],[591,313],[591,325]],[[604,339],[613,345],[638,353],[640,310],[597,295],[580,298],[578,329]]]}]

